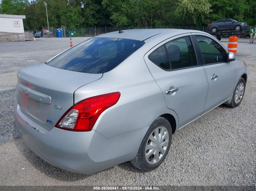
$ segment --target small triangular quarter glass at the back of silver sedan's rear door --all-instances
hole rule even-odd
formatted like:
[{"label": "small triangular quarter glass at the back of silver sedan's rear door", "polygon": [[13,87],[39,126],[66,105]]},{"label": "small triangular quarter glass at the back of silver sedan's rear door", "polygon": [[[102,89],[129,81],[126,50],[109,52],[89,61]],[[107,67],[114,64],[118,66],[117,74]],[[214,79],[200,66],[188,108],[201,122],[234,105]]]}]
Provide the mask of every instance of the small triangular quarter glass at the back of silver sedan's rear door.
[{"label": "small triangular quarter glass at the back of silver sedan's rear door", "polygon": [[171,69],[170,67],[170,62],[168,60],[168,56],[165,50],[165,46],[160,46],[158,49],[156,49],[153,53],[151,53],[148,58],[154,62],[156,65],[159,67],[169,70]]}]

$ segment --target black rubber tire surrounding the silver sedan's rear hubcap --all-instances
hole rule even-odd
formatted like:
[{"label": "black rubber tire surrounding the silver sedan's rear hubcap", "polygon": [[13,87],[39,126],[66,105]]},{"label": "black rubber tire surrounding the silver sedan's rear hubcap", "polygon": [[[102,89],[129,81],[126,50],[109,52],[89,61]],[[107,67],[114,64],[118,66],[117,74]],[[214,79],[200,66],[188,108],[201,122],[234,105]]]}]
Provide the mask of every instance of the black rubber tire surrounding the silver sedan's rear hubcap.
[{"label": "black rubber tire surrounding the silver sedan's rear hubcap", "polygon": [[[169,135],[168,145],[167,145],[165,153],[162,155],[161,159],[158,162],[156,162],[155,164],[149,164],[145,158],[145,147],[146,147],[146,144],[148,143],[149,136],[151,134],[153,135],[154,130],[158,127],[165,127],[167,129],[167,132]],[[148,128],[148,131],[141,142],[141,145],[139,147],[136,157],[133,160],[131,160],[131,164],[133,164],[136,168],[138,168],[139,170],[142,170],[142,171],[151,171],[151,170],[156,169],[165,160],[165,157],[168,154],[168,151],[171,146],[171,138],[172,138],[172,130],[171,130],[170,123],[168,122],[167,119],[165,119],[163,117],[158,117]],[[159,155],[160,155],[160,152],[159,152]]]}]

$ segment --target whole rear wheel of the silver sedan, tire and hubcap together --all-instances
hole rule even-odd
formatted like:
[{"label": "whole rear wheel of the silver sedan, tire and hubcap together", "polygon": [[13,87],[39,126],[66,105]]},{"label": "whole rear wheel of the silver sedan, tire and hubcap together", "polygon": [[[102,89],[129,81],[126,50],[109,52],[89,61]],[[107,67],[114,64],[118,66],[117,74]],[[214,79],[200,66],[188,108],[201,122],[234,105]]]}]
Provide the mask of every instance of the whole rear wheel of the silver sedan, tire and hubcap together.
[{"label": "whole rear wheel of the silver sedan, tire and hubcap together", "polygon": [[142,171],[156,169],[168,154],[171,138],[170,123],[167,119],[158,117],[148,128],[136,157],[131,160],[131,164]]}]

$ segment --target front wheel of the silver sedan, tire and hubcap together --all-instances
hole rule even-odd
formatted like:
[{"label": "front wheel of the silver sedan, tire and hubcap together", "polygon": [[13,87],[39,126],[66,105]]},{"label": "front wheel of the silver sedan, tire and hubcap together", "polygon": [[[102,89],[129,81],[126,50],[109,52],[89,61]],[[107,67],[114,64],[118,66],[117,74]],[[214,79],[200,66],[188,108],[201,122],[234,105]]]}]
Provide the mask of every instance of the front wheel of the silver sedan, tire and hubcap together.
[{"label": "front wheel of the silver sedan, tire and hubcap together", "polygon": [[244,97],[244,91],[245,91],[245,81],[244,81],[244,78],[240,78],[233,92],[231,103],[227,104],[227,106],[232,108],[238,107]]}]

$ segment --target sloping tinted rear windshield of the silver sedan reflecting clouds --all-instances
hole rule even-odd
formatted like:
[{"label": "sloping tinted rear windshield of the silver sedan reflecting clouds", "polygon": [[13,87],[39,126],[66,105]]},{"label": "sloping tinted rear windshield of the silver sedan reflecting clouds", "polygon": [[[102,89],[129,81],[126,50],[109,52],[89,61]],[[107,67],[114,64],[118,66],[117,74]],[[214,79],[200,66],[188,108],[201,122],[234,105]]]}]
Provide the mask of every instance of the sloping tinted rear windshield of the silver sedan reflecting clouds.
[{"label": "sloping tinted rear windshield of the silver sedan reflecting clouds", "polygon": [[144,44],[139,40],[92,38],[60,54],[47,65],[75,72],[105,73]]}]

